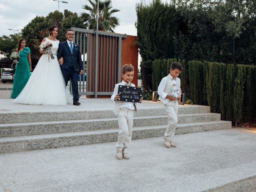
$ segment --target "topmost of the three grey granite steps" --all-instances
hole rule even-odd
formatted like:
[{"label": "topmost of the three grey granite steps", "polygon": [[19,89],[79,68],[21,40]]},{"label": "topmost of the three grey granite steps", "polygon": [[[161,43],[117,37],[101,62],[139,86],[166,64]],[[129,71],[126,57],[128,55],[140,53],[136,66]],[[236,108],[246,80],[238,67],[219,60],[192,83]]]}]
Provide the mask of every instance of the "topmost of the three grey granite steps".
[{"label": "topmost of the three grey granite steps", "polygon": [[[154,103],[153,103],[154,104]],[[159,106],[158,102],[155,102]],[[22,106],[24,107],[24,106]],[[29,106],[30,107],[30,106]],[[192,113],[210,113],[209,106],[180,106],[178,114],[192,114]],[[154,116],[166,115],[163,108],[142,108],[135,113],[135,116]],[[102,119],[102,118],[115,118],[112,110],[74,110],[67,109],[60,111],[44,110],[38,112],[8,112],[3,111],[0,113],[0,124],[5,123],[19,123],[19,122],[45,122],[45,121],[62,121],[62,120],[84,120],[84,119]]]}]

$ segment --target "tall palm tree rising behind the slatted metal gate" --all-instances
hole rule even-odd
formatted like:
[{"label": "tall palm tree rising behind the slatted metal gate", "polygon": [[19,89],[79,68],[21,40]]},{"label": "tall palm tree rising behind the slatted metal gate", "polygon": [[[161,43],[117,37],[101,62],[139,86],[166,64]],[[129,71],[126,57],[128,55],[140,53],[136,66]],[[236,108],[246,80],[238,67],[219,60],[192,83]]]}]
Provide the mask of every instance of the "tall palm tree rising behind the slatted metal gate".
[{"label": "tall palm tree rising behind the slatted metal gate", "polygon": [[[97,3],[98,0],[88,0],[91,7],[84,5],[82,9],[90,12],[90,14],[83,12],[81,17],[88,20],[89,29],[96,29],[97,27]],[[119,25],[118,18],[112,16],[113,13],[118,12],[118,9],[112,9],[111,0],[105,0],[99,2],[99,22],[98,29],[101,31],[114,32],[113,29]]]}]

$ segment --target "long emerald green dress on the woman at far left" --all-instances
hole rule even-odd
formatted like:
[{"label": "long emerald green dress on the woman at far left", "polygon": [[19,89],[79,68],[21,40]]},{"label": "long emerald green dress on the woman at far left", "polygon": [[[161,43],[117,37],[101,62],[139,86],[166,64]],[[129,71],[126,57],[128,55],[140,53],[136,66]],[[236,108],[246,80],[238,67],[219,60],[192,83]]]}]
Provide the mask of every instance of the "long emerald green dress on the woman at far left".
[{"label": "long emerald green dress on the woman at far left", "polygon": [[25,47],[22,51],[20,51],[20,58],[16,64],[14,73],[11,98],[16,98],[20,94],[28,79],[30,78],[28,54],[31,55],[30,48],[28,47]]}]

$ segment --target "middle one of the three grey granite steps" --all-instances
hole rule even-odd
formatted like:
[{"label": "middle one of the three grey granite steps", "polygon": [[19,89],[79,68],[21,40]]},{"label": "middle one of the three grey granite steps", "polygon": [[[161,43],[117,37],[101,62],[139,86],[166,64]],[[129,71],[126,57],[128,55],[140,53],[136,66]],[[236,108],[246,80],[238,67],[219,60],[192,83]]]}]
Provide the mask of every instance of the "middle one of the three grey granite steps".
[{"label": "middle one of the three grey granite steps", "polygon": [[[220,114],[179,114],[178,124],[220,120]],[[166,125],[168,116],[136,116],[134,127]],[[117,118],[0,124],[0,137],[117,129]]]}]

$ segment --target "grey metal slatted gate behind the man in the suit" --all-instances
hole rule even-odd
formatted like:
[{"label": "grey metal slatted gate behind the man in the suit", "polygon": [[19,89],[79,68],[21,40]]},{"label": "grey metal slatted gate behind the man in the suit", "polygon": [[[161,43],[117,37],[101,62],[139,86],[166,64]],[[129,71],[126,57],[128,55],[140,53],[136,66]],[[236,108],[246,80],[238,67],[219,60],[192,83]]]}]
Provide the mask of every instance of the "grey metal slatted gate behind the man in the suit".
[{"label": "grey metal slatted gate behind the man in the suit", "polygon": [[78,83],[79,94],[95,98],[112,95],[114,85],[121,81],[122,38],[126,38],[126,34],[72,29],[86,72],[86,80],[81,76]]}]

